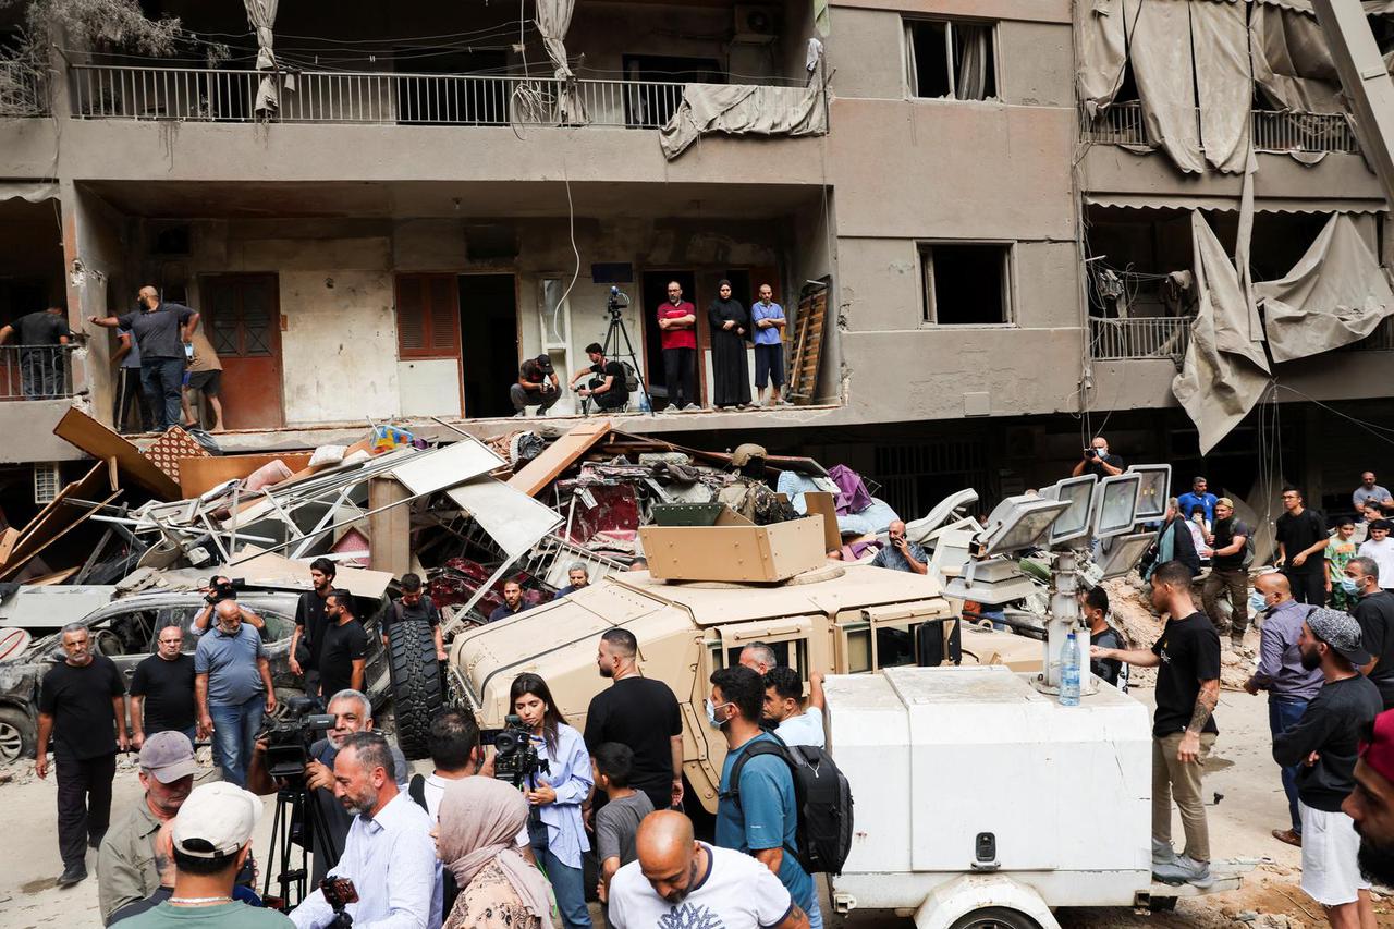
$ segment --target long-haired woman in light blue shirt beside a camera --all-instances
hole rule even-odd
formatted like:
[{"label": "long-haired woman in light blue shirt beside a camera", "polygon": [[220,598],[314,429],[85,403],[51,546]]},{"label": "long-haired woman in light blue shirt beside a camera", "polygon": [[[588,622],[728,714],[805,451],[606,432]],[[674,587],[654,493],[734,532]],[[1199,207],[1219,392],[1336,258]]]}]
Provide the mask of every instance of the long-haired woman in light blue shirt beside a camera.
[{"label": "long-haired woman in light blue shirt beside a camera", "polygon": [[581,826],[581,801],[592,784],[590,752],[581,734],[562,718],[552,690],[538,675],[513,678],[509,702],[531,730],[538,757],[546,762],[546,770],[533,774],[524,785],[533,854],[552,882],[566,929],[590,929],[581,873],[581,854],[591,847]]}]

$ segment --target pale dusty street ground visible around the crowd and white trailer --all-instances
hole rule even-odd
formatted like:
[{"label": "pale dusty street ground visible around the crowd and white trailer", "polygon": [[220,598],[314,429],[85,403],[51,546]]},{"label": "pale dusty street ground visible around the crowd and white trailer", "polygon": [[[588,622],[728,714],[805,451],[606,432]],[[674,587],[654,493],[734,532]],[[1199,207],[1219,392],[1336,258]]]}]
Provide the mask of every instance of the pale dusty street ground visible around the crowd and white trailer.
[{"label": "pale dusty street ground visible around the crowd and white trailer", "polygon": [[[1151,702],[1150,689],[1135,696]],[[1267,707],[1263,697],[1225,690],[1217,710],[1221,735],[1217,756],[1206,788],[1223,799],[1210,808],[1210,836],[1217,859],[1257,861],[1245,886],[1234,893],[1181,900],[1174,914],[1136,914],[1131,909],[1087,909],[1059,912],[1066,929],[1110,929],[1114,926],[1151,926],[1171,929],[1190,926],[1249,925],[1259,929],[1324,925],[1319,908],[1298,889],[1301,852],[1269,836],[1287,824],[1287,803],[1278,784],[1277,767],[1269,756]],[[210,769],[209,777],[213,777]],[[96,852],[88,855],[93,876],[70,890],[59,890],[53,879],[61,870],[54,838],[54,785],[32,777],[32,763],[0,771],[10,774],[0,783],[0,803],[7,812],[6,833],[0,841],[0,929],[32,926],[96,926]],[[139,799],[135,771],[123,766],[117,774],[114,817]],[[262,817],[256,840],[258,855],[265,855],[270,833],[272,808]],[[1179,822],[1174,834],[1181,836]],[[1394,901],[1376,904],[1381,926],[1394,929]],[[824,914],[829,908],[824,902]],[[1236,919],[1236,916],[1239,919]],[[829,926],[835,921],[828,921]],[[853,914],[849,929],[907,929],[907,919],[887,914]],[[599,925],[599,923],[598,923]]]}]

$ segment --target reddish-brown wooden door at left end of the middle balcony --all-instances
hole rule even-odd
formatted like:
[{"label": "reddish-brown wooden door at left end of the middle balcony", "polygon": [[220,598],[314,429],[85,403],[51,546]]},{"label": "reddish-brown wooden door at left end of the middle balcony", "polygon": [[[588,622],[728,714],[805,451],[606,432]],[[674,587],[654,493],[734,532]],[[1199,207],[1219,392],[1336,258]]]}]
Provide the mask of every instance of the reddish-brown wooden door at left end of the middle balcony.
[{"label": "reddish-brown wooden door at left end of the middle balcony", "polygon": [[279,292],[276,275],[202,279],[199,325],[223,363],[223,424],[229,430],[286,424]]}]

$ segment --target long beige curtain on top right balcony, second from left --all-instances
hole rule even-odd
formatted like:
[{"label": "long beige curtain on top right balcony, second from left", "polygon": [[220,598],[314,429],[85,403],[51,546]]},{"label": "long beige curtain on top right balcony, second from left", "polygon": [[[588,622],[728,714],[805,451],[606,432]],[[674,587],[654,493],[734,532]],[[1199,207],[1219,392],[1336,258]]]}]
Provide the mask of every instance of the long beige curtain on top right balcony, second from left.
[{"label": "long beige curtain on top right balcony, second from left", "polygon": [[1147,141],[1186,174],[1204,173],[1196,124],[1188,0],[1125,0],[1128,45]]}]

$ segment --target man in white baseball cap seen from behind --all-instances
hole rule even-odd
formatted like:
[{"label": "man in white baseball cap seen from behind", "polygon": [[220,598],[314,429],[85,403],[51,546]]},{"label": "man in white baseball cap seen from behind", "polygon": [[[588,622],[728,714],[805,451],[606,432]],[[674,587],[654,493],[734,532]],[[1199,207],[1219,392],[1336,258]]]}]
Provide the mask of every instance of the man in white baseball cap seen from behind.
[{"label": "man in white baseball cap seen from behind", "polygon": [[170,830],[174,893],[142,914],[123,919],[128,929],[220,926],[223,929],[289,929],[275,909],[238,902],[233,886],[252,849],[261,799],[227,781],[195,788]]}]

